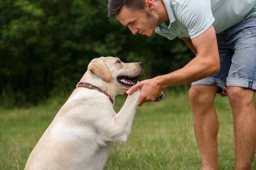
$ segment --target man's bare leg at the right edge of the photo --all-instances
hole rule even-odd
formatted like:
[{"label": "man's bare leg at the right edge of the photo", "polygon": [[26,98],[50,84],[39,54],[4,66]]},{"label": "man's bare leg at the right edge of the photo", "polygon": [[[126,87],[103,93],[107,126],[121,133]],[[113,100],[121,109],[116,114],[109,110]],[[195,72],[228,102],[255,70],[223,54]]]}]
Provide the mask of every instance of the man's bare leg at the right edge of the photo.
[{"label": "man's bare leg at the right edge of the photo", "polygon": [[228,87],[229,103],[234,116],[235,170],[252,170],[256,149],[256,111],[254,91],[235,86]]}]

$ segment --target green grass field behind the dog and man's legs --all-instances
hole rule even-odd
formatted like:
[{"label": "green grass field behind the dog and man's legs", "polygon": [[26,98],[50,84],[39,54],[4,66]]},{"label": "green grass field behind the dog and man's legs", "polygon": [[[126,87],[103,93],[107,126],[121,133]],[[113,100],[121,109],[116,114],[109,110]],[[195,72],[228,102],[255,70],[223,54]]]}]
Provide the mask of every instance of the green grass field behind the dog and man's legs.
[{"label": "green grass field behind the dog and man's legs", "polygon": [[[23,170],[29,153],[67,97],[30,108],[0,109],[0,170]],[[115,100],[115,110],[125,101]],[[228,98],[217,95],[220,170],[234,169],[233,118]],[[252,170],[256,169],[256,158]],[[165,91],[160,103],[137,109],[126,144],[116,143],[104,170],[200,170],[187,93]]]}]

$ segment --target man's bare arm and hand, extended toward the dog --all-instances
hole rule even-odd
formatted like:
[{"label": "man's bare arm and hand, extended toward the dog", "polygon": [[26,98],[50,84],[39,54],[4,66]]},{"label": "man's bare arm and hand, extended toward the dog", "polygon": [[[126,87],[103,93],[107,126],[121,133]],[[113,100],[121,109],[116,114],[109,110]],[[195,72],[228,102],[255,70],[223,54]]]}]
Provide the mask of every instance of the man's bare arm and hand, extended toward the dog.
[{"label": "man's bare arm and hand, extended toward the dog", "polygon": [[163,88],[188,84],[217,73],[220,69],[220,59],[213,26],[210,26],[207,31],[198,37],[193,38],[191,42],[194,47],[194,50],[191,50],[193,52],[196,50],[195,52],[198,55],[186,66],[166,75],[143,80],[132,86],[127,94],[140,89],[139,105],[141,106],[144,102],[155,101]]}]

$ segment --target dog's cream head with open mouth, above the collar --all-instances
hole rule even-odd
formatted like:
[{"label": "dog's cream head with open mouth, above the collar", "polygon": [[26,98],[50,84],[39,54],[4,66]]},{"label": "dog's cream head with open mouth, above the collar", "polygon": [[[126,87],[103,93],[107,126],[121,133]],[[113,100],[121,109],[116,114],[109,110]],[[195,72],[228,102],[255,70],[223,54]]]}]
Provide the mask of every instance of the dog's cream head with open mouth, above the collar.
[{"label": "dog's cream head with open mouth, above the collar", "polygon": [[87,81],[99,88],[106,87],[104,91],[112,95],[124,94],[136,84],[133,81],[141,75],[142,71],[141,62],[124,63],[117,57],[100,57],[88,64],[85,75],[90,74],[90,79],[86,77],[87,79],[84,80],[84,76],[81,82]]}]

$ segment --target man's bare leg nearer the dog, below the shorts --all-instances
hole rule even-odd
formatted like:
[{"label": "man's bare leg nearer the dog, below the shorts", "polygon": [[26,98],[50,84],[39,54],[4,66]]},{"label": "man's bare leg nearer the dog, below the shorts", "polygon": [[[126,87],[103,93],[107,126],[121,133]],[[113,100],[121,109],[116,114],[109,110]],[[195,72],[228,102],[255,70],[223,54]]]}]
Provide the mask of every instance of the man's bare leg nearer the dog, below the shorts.
[{"label": "man's bare leg nearer the dog, below the shorts", "polygon": [[189,90],[202,170],[218,170],[218,119],[214,106],[217,90],[215,85],[195,85]]}]

